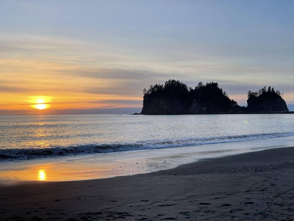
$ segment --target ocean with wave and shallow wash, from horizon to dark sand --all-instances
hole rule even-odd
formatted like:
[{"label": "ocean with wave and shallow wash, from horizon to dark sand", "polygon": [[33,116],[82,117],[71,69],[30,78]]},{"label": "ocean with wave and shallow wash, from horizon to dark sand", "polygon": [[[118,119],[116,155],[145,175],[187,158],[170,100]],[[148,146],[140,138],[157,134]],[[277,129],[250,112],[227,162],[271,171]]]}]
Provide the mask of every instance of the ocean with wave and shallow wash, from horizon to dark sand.
[{"label": "ocean with wave and shallow wash, from horizon to dark sand", "polygon": [[294,146],[293,122],[293,114],[0,116],[0,181],[34,180],[11,171],[44,165],[67,170],[46,180],[93,179]]}]

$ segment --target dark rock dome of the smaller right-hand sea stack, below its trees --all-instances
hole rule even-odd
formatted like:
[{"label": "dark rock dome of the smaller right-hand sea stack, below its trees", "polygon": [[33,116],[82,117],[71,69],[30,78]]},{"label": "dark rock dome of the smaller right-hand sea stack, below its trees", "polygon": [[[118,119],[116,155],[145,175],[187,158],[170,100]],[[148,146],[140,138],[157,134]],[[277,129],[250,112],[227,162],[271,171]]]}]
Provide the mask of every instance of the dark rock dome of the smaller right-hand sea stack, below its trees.
[{"label": "dark rock dome of the smaller right-hand sea stack, below its trees", "polygon": [[248,112],[289,111],[285,100],[275,92],[265,92],[258,97],[251,95],[247,100]]}]

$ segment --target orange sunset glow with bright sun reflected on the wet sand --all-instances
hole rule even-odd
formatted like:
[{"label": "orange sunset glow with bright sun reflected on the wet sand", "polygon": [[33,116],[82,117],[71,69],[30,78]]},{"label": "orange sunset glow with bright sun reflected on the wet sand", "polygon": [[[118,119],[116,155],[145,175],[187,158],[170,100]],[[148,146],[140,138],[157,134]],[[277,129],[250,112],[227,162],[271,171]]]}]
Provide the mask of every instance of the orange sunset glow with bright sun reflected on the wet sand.
[{"label": "orange sunset glow with bright sun reflected on the wet sand", "polygon": [[[81,159],[80,159],[81,160]],[[111,168],[118,167],[118,165],[106,164],[101,165],[93,162],[87,162],[86,159],[68,161],[68,162],[55,162],[48,165],[42,165],[44,159],[39,163],[36,160],[34,164],[28,162],[20,162],[15,167],[10,165],[0,164],[0,185],[1,183],[13,183],[22,181],[38,181],[38,182],[56,182],[56,181],[73,181],[85,179],[98,179],[113,177],[116,175],[128,175],[129,171],[122,173],[121,171],[114,171]],[[38,165],[39,164],[39,165]]]}]

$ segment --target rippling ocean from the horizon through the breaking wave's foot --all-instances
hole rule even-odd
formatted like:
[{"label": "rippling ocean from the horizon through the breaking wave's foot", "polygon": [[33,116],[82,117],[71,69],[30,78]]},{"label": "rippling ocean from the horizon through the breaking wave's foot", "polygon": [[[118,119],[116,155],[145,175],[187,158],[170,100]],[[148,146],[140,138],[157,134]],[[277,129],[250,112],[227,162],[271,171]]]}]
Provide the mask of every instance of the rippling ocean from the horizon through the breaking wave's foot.
[{"label": "rippling ocean from the horizon through the breaking wave's foot", "polygon": [[292,114],[0,116],[0,160],[288,137],[293,123]]}]

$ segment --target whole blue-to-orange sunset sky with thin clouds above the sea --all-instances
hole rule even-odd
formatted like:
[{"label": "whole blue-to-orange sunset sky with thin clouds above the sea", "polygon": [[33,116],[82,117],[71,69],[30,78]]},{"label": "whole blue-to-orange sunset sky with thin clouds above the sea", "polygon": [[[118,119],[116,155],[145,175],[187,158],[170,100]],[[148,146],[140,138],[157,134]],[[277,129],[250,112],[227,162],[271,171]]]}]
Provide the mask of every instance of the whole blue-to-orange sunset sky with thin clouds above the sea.
[{"label": "whole blue-to-orange sunset sky with thin clouds above the sea", "polygon": [[[135,113],[143,89],[217,82],[294,110],[292,0],[0,0],[0,114]],[[38,105],[42,104],[42,106]]]}]

